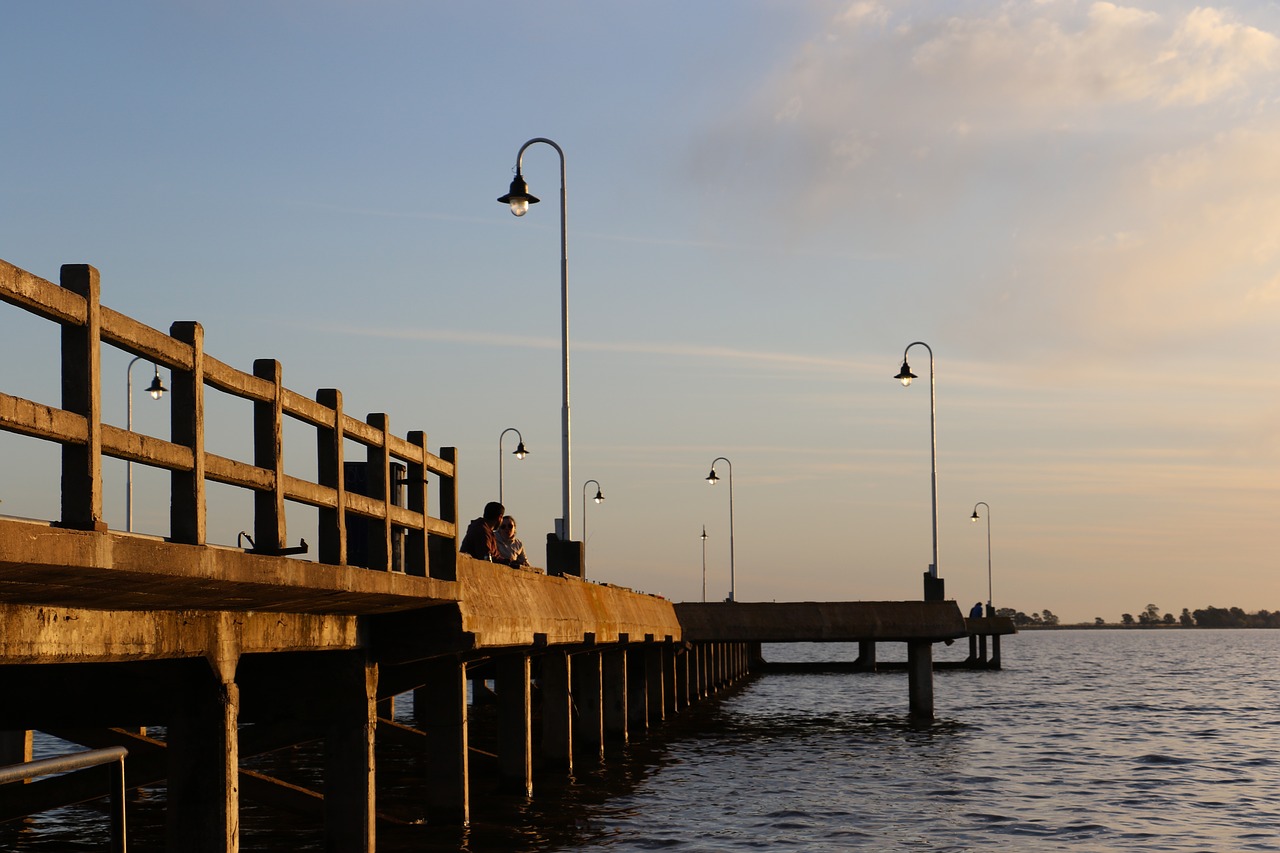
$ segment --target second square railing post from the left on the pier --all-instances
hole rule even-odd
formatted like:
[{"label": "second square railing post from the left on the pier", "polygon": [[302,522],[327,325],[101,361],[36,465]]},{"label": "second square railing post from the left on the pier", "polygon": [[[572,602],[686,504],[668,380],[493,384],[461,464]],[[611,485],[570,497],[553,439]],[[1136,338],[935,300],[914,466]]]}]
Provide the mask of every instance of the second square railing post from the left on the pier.
[{"label": "second square railing post from the left on the pier", "polygon": [[191,345],[191,371],[173,370],[169,434],[191,448],[191,470],[172,471],[169,535],[183,544],[205,544],[205,329],[198,323],[169,327],[170,337]]}]

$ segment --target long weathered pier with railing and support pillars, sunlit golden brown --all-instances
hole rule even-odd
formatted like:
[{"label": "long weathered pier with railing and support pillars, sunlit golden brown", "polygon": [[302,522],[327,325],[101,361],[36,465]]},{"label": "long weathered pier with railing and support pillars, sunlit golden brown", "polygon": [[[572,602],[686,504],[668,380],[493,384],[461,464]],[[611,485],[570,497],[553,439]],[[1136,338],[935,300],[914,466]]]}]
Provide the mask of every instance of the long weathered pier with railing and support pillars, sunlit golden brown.
[{"label": "long weathered pier with railing and support pillars, sunlit golden brown", "polygon": [[[218,361],[198,323],[165,334],[104,307],[99,287],[91,266],[64,266],[54,284],[0,261],[0,301],[61,341],[58,405],[0,393],[0,429],[61,451],[47,473],[59,517],[0,517],[0,765],[31,758],[31,730],[123,745],[128,788],[165,785],[166,849],[239,849],[251,798],[310,816],[329,849],[372,853],[392,820],[378,809],[380,740],[425,757],[428,829],[470,820],[468,713],[481,698],[497,711],[502,786],[526,797],[535,770],[599,762],[607,744],[735,684],[762,642],[906,643],[909,712],[932,717],[932,643],[969,635],[954,602],[673,605],[460,556],[453,448],[397,437],[384,414],[352,418],[337,389],[291,391],[278,361],[250,373]],[[102,421],[104,345],[169,369],[169,438]],[[205,448],[209,393],[251,403],[252,459]],[[316,482],[285,474],[287,419],[314,430]],[[104,457],[169,473],[168,535],[108,528]],[[207,542],[207,483],[252,493],[248,548]],[[307,558],[288,544],[285,502],[317,510]],[[416,725],[396,724],[389,702],[410,692]],[[323,743],[316,789],[242,766],[303,742]],[[102,785],[3,785],[0,821]]]}]

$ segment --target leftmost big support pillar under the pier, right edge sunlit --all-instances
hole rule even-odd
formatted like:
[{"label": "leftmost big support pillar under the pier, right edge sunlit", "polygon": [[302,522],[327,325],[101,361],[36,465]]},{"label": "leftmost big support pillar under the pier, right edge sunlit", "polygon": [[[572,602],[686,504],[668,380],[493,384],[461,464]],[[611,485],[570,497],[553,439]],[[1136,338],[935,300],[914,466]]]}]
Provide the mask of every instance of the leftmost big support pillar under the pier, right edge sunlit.
[{"label": "leftmost big support pillar under the pier, right edge sunlit", "polygon": [[183,669],[169,720],[165,848],[239,850],[239,688],[204,660]]}]

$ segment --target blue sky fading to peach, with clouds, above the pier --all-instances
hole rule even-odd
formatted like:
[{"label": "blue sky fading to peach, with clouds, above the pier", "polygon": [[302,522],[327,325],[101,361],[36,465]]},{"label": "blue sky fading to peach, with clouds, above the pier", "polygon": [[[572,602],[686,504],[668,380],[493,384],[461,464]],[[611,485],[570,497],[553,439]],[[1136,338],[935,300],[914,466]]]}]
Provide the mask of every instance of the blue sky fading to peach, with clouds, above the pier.
[{"label": "blue sky fading to peach, with clouds, above the pier", "polygon": [[[456,447],[463,519],[502,444],[535,564],[562,515],[556,150],[524,155],[527,215],[495,200],[544,137],[590,579],[919,598],[936,432],[964,610],[1280,610],[1276,3],[19,0],[0,28],[0,257],[92,264],[104,305]],[[58,357],[0,306],[0,391],[58,405]],[[102,364],[104,418],[132,375],[134,429],[168,437],[150,365]],[[247,403],[210,397],[207,450],[250,460]],[[291,474],[308,441],[287,429]],[[56,447],[0,459],[0,511],[56,517]],[[133,483],[164,535],[166,476]],[[209,528],[234,544],[251,501],[211,485]]]}]

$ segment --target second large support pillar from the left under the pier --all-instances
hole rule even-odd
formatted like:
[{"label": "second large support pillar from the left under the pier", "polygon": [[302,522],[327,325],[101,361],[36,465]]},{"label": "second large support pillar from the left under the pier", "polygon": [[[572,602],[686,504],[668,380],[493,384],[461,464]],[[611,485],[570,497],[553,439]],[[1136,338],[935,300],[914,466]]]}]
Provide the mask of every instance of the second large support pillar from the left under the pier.
[{"label": "second large support pillar from the left under the pier", "polygon": [[325,725],[325,847],[374,853],[378,665],[361,653],[332,657],[326,689],[335,707]]}]

